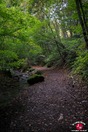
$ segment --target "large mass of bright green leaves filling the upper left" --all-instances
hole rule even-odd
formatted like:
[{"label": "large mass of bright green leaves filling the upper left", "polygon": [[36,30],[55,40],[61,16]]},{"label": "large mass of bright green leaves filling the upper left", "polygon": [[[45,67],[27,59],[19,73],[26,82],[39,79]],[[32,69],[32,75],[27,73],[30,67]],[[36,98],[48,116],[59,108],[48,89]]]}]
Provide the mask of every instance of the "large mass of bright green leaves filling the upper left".
[{"label": "large mass of bright green leaves filling the upper left", "polygon": [[0,4],[0,69],[19,68],[42,52],[34,41],[41,22],[18,7]]}]

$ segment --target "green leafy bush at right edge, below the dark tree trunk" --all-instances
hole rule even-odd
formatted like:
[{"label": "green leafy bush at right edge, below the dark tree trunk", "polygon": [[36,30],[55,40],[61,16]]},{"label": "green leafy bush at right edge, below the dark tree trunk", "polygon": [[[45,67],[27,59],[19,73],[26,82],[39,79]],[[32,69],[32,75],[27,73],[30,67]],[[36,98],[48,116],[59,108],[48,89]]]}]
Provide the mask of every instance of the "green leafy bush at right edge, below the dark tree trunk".
[{"label": "green leafy bush at right edge, below the dark tree trunk", "polygon": [[88,51],[80,53],[73,65],[73,73],[79,74],[88,82]]}]

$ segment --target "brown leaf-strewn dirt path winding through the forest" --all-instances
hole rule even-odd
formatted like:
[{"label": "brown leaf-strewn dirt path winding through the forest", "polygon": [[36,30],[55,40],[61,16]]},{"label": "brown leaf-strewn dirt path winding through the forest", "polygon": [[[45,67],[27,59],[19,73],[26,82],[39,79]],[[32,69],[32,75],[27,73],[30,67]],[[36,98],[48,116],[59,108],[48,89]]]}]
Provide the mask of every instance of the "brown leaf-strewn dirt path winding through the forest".
[{"label": "brown leaf-strewn dirt path winding through the forest", "polygon": [[88,126],[85,88],[81,91],[77,85],[73,87],[65,69],[35,68],[44,72],[45,81],[26,86],[15,99],[8,110],[10,128],[7,125],[7,131],[70,132],[77,121],[84,121]]}]

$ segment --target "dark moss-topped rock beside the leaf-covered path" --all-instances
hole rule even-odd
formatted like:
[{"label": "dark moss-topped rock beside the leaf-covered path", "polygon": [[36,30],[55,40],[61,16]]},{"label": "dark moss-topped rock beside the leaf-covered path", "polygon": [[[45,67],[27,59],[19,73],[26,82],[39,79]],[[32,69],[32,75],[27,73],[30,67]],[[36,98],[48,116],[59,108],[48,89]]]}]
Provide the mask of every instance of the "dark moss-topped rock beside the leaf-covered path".
[{"label": "dark moss-topped rock beside the leaf-covered path", "polygon": [[44,76],[43,76],[43,75],[38,75],[38,74],[32,75],[32,76],[27,80],[27,82],[28,82],[30,85],[33,85],[33,84],[35,84],[35,83],[42,82],[42,81],[44,81]]}]

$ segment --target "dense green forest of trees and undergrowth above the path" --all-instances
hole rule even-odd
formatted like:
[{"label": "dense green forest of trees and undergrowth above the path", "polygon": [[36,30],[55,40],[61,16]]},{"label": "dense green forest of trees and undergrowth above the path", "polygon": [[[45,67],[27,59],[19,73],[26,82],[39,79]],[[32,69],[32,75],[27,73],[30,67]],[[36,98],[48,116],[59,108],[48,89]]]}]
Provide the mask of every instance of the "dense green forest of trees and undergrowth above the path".
[{"label": "dense green forest of trees and undergrowth above the path", "polygon": [[31,65],[88,80],[87,0],[0,0],[0,70]]}]

